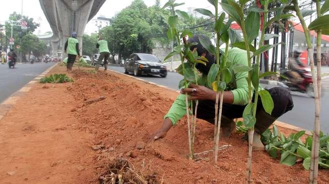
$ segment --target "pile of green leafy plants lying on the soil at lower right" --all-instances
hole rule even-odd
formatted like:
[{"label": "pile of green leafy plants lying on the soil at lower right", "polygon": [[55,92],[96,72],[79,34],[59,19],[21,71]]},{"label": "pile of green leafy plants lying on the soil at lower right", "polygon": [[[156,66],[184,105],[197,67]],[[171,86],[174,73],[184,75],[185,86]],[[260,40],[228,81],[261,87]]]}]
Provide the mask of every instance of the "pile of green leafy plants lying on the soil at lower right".
[{"label": "pile of green leafy plants lying on the soil at lower right", "polygon": [[[248,131],[242,122],[237,122],[236,129],[241,133]],[[305,131],[299,131],[286,137],[274,125],[262,133],[261,141],[266,145],[266,151],[273,158],[280,159],[280,163],[292,166],[302,159],[304,168],[309,170],[313,136],[307,136],[303,142],[300,138],[304,135]],[[319,167],[329,169],[329,135],[320,132],[319,141]]]}]

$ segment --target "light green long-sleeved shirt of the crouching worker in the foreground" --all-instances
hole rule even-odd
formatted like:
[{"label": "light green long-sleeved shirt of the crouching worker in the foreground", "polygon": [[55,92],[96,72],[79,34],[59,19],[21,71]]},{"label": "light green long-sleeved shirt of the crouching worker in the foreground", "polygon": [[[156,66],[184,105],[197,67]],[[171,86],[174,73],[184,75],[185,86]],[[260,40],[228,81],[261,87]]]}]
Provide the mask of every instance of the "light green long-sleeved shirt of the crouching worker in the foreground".
[{"label": "light green long-sleeved shirt of the crouching worker in the foreground", "polygon": [[[233,48],[228,51],[228,59],[232,64],[243,64],[248,66],[247,54],[246,51]],[[248,104],[248,83],[246,77],[248,72],[235,73],[234,78],[231,83],[227,84],[226,90],[230,90],[234,96],[234,105],[246,105]],[[202,76],[198,80],[199,85],[207,86],[207,76]],[[185,108],[185,95],[179,95],[175,102],[172,104],[169,112],[164,116],[164,118],[169,118],[173,125],[177,124],[177,121],[180,120],[186,114]]]}]

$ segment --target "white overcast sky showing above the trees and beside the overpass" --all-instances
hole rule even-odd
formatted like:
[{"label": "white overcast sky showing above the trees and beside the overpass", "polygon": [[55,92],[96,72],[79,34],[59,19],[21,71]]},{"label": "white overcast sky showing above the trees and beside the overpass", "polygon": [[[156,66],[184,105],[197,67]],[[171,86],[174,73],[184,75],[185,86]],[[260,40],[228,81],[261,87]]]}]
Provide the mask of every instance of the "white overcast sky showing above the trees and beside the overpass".
[{"label": "white overcast sky showing above the trees and beside the overpass", "polygon": [[[47,0],[45,0],[47,1]],[[79,0],[78,0],[79,1]],[[22,11],[23,2],[23,15],[29,16],[34,19],[35,22],[40,23],[40,27],[36,30],[35,34],[44,34],[47,31],[51,31],[46,17],[41,10],[39,0],[1,0],[0,9],[0,24],[4,24],[8,20],[9,15],[13,12]],[[102,8],[99,10],[99,15],[104,15],[107,18],[113,17],[116,13],[120,12],[123,8],[129,6],[133,0],[107,0]],[[147,6],[152,6],[155,4],[155,0],[144,0]],[[167,0],[161,0],[161,6],[163,6]],[[184,6],[180,7],[180,10],[187,11],[187,8],[212,8],[211,4],[207,0],[191,1],[191,0],[176,0],[177,3],[185,3]]]}]

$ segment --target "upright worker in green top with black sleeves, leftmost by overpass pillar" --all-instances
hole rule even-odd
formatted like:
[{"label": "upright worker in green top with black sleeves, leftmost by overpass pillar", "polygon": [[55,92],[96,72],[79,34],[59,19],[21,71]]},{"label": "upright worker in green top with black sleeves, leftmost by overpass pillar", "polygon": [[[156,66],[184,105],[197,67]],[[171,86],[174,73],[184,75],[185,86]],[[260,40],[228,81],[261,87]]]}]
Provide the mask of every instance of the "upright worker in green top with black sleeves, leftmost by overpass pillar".
[{"label": "upright worker in green top with black sleeves, leftmost by overpass pillar", "polygon": [[73,32],[71,37],[65,42],[65,53],[68,53],[67,71],[72,71],[72,67],[76,57],[80,57],[79,41],[77,40],[77,33]]}]

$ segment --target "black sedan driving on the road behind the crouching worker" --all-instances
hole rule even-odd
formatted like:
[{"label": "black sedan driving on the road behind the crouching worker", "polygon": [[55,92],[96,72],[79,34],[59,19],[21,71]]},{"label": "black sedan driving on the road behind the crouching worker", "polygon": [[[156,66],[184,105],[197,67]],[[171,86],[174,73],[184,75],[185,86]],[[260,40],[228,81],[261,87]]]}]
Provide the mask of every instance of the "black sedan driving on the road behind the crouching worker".
[{"label": "black sedan driving on the road behind the crouching worker", "polygon": [[128,74],[129,72],[134,73],[135,76],[141,74],[167,76],[166,65],[152,54],[131,54],[124,62],[124,73]]}]

